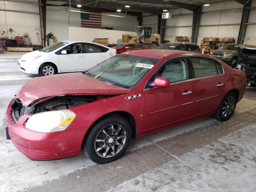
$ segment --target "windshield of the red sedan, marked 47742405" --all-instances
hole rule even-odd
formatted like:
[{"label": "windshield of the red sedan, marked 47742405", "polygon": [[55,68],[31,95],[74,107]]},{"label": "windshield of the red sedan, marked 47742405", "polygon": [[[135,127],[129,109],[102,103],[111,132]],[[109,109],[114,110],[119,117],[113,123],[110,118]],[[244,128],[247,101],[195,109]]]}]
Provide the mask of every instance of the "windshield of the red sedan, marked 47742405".
[{"label": "windshield of the red sedan, marked 47742405", "polygon": [[87,74],[120,87],[132,88],[158,61],[157,58],[119,54],[88,70]]}]

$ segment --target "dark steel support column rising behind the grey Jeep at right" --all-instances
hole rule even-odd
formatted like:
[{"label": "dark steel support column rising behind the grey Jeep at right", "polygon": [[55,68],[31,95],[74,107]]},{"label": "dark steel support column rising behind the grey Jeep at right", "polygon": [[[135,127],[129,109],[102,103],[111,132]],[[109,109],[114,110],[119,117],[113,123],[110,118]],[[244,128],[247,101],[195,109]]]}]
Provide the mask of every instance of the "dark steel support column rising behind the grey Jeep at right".
[{"label": "dark steel support column rising behind the grey Jeep at right", "polygon": [[249,0],[246,4],[244,4],[242,20],[241,20],[241,24],[240,24],[238,39],[237,39],[238,44],[244,44],[244,37],[246,34],[246,29],[247,29],[247,24],[245,24],[245,23],[248,23],[248,19],[249,19],[249,15],[250,15],[250,9],[248,9],[247,7],[251,6],[251,2],[252,1]]}]

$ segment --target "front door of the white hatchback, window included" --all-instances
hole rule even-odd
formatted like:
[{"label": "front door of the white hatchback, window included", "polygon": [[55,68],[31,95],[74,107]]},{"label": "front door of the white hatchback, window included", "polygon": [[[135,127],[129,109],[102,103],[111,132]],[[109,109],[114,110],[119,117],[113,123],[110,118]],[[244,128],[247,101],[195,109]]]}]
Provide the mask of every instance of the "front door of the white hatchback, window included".
[{"label": "front door of the white hatchback, window included", "polygon": [[[66,50],[67,54],[61,54]],[[84,71],[84,52],[82,43],[66,46],[60,50],[59,63],[62,72]]]}]

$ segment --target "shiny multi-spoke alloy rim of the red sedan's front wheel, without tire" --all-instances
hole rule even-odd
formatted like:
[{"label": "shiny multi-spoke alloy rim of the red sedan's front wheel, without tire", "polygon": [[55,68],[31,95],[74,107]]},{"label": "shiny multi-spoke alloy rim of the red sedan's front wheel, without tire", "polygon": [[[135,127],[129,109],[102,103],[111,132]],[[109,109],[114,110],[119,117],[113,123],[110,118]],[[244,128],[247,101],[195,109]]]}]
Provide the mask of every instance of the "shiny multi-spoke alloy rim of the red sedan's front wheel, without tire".
[{"label": "shiny multi-spoke alloy rim of the red sedan's front wheel, without tire", "polygon": [[120,152],[125,142],[124,127],[117,123],[108,124],[98,132],[94,141],[94,149],[99,156],[109,158]]}]

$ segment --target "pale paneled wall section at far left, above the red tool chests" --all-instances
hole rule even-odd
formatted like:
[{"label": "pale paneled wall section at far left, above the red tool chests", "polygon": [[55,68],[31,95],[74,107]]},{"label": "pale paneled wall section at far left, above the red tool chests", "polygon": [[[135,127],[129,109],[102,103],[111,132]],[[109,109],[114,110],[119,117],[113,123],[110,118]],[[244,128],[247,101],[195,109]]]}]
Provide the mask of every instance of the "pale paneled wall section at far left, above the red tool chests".
[{"label": "pale paneled wall section at far left, above the red tool chests", "polygon": [[[30,0],[30,2],[38,3],[38,0]],[[38,5],[33,4],[5,1],[5,8],[6,10],[39,13]],[[2,0],[0,0],[0,9],[4,9],[4,1]],[[12,28],[14,31],[8,32],[10,28]],[[5,31],[4,34],[3,31]],[[5,12],[0,11],[0,37],[15,38],[15,36],[23,36],[25,32],[29,34],[32,44],[41,44],[36,35],[36,33],[38,33],[39,37],[41,37],[39,14],[6,12],[5,20]]]}]

